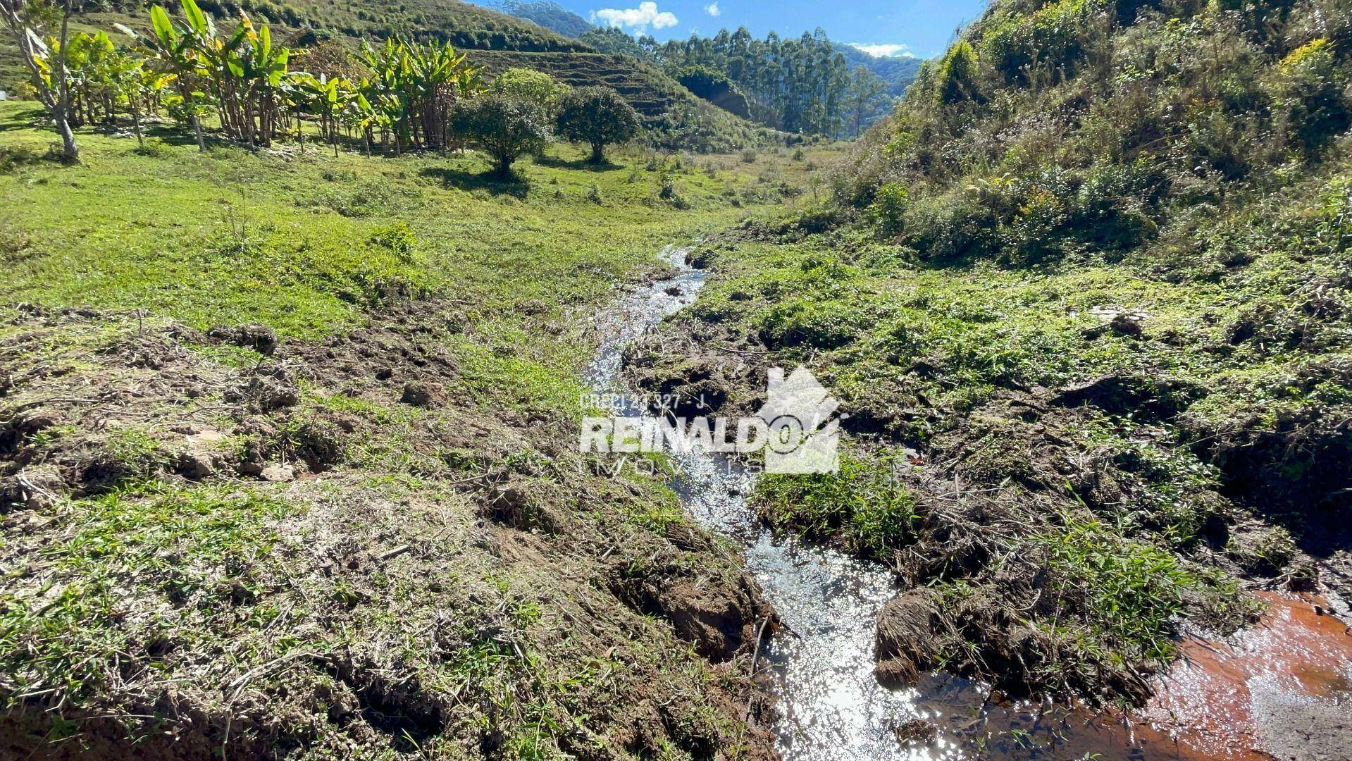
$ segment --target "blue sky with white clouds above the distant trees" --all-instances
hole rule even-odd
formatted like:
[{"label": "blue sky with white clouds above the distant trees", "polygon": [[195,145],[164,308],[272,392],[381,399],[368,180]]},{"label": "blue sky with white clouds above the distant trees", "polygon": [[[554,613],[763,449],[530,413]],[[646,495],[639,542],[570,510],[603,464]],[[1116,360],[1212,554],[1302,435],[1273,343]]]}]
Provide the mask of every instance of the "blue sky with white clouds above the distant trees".
[{"label": "blue sky with white clouds above the distant trees", "polygon": [[975,19],[986,0],[557,0],[598,24],[657,39],[745,26],[756,36],[773,30],[798,36],[822,27],[833,42],[873,46],[875,54],[929,58],[948,47],[953,30]]}]

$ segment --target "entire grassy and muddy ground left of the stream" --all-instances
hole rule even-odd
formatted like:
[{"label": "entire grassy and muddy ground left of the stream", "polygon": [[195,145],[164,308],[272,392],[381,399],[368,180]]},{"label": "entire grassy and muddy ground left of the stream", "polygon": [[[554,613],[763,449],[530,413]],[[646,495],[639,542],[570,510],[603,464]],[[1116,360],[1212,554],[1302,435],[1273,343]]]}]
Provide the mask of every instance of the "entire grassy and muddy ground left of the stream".
[{"label": "entire grassy and muddy ground left of the stream", "polygon": [[65,168],[35,116],[0,104],[0,747],[769,746],[754,583],[576,453],[579,372],[662,246],[800,203],[833,149],[552,146],[498,182],[87,130]]}]

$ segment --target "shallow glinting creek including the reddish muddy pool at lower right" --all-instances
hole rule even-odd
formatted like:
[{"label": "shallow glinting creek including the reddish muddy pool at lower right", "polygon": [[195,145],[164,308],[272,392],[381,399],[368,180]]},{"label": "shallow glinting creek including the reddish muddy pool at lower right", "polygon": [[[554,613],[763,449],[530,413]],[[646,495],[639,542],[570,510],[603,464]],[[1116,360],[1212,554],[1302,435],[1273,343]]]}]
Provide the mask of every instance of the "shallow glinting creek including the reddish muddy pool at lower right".
[{"label": "shallow glinting creek including the reddish muddy pool at lower right", "polygon": [[[598,319],[602,349],[588,370],[598,392],[629,391],[619,380],[625,347],[691,304],[704,283],[704,273],[685,262],[684,249],[668,247],[662,257],[677,274],[637,289]],[[621,411],[646,414],[635,407]],[[896,592],[892,574],[827,547],[773,535],[746,503],[753,477],[726,458],[691,453],[673,460],[672,487],[685,511],[737,542],[784,624],[767,643],[760,674],[776,697],[775,731],[784,758],[1079,758],[1087,753],[1141,760],[1267,758],[1252,747],[1288,750],[1293,738],[1290,727],[1280,737],[1271,727],[1267,735],[1274,737],[1264,735],[1264,727],[1256,726],[1264,716],[1290,725],[1293,716],[1307,714],[1324,720],[1352,715],[1347,695],[1352,637],[1332,616],[1303,615],[1313,611],[1309,600],[1275,596],[1274,612],[1238,641],[1184,642],[1184,658],[1161,677],[1159,696],[1140,715],[992,702],[986,685],[942,673],[923,676],[910,688],[886,689],[873,679],[873,624]],[[936,738],[922,745],[899,742],[894,727],[909,719],[936,726]]]}]

